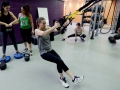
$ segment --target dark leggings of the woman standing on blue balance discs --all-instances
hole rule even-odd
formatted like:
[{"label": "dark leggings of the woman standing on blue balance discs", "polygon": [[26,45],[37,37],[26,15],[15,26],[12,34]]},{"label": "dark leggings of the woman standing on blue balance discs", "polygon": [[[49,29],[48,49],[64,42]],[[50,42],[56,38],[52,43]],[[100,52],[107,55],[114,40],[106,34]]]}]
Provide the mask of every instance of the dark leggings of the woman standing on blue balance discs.
[{"label": "dark leggings of the woman standing on blue balance discs", "polygon": [[11,38],[11,40],[13,42],[15,50],[16,51],[18,50],[14,32],[13,31],[10,31],[10,32],[7,32],[7,33],[1,32],[3,54],[6,53],[6,46],[7,46],[7,37],[8,37],[8,35],[10,36],[10,38]]}]

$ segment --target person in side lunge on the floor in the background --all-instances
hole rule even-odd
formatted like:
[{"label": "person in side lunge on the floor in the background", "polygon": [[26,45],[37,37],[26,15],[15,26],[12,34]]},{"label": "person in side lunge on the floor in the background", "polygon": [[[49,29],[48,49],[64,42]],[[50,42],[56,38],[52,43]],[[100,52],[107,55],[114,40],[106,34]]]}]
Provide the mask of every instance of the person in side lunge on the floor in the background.
[{"label": "person in side lunge on the floor in the background", "polygon": [[67,36],[66,38],[63,38],[62,41],[65,41],[65,39],[70,37],[75,37],[75,41],[77,41],[77,36],[80,37],[81,41],[85,41],[84,38],[86,37],[86,35],[84,34],[83,28],[81,27],[80,23],[77,23],[76,26],[77,27],[75,28],[75,33]]}]

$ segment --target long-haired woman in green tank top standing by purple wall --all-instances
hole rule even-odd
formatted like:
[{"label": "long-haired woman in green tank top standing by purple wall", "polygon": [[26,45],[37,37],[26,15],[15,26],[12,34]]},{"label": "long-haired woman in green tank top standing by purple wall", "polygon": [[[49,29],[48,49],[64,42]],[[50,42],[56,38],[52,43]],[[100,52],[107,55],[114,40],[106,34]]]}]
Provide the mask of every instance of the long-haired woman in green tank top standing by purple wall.
[{"label": "long-haired woman in green tank top standing by purple wall", "polygon": [[31,35],[34,34],[34,24],[33,24],[32,15],[30,14],[29,5],[25,4],[21,7],[21,13],[19,13],[18,15],[18,21],[20,22],[21,36],[25,46],[23,53],[28,51],[27,48],[27,43],[28,43],[30,49],[30,55],[32,56],[33,51],[32,51],[32,43],[31,43]]}]

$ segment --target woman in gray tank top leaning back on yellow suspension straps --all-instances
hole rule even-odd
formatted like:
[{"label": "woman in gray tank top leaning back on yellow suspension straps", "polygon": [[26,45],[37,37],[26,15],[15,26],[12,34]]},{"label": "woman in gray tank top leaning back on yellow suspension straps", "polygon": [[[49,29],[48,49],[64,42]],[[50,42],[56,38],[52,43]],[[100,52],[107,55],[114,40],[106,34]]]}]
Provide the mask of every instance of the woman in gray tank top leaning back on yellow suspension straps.
[{"label": "woman in gray tank top leaning back on yellow suspension straps", "polygon": [[60,24],[55,22],[55,25],[53,27],[51,27],[50,29],[46,29],[46,21],[43,17],[38,18],[37,22],[38,22],[37,23],[38,29],[35,29],[35,35],[38,39],[38,48],[39,48],[41,57],[46,61],[57,64],[57,70],[58,70],[58,73],[60,74],[60,82],[65,88],[68,88],[69,85],[65,77],[63,76],[63,71],[68,76],[70,76],[74,84],[81,82],[84,76],[81,76],[81,77],[74,76],[70,72],[66,64],[63,62],[63,60],[60,58],[60,56],[51,48],[49,34],[51,32],[57,31],[56,28],[60,27]]}]

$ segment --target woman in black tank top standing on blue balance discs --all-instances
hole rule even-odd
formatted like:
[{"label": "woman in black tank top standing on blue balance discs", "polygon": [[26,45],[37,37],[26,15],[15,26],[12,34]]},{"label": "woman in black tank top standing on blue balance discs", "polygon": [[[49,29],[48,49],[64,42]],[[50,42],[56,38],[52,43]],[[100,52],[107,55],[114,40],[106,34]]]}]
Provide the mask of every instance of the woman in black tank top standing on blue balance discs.
[{"label": "woman in black tank top standing on blue balance discs", "polygon": [[[15,40],[15,33],[13,29],[13,24],[16,24],[17,18],[15,15],[9,11],[10,10],[10,4],[7,1],[3,1],[1,5],[1,11],[0,11],[0,25],[1,25],[1,39],[2,39],[2,50],[3,50],[3,59],[6,58],[6,45],[7,45],[7,37],[10,36],[14,48],[16,50],[16,53],[19,53],[17,43]],[[14,21],[11,22],[11,17],[14,19]]]}]

